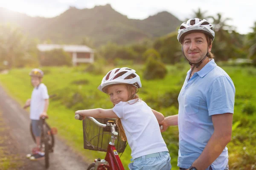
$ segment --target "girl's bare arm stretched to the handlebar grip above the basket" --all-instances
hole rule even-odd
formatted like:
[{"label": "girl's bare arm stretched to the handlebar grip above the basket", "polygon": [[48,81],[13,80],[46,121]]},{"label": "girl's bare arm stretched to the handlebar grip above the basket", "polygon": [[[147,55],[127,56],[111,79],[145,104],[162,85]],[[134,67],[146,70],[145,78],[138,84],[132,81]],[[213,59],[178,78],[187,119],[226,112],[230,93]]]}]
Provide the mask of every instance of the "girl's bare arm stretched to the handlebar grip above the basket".
[{"label": "girl's bare arm stretched to the handlebar grip above the basket", "polygon": [[86,116],[94,117],[94,118],[118,118],[115,112],[112,109],[88,109],[88,110],[81,110],[76,111],[75,114],[80,114],[85,119]]}]

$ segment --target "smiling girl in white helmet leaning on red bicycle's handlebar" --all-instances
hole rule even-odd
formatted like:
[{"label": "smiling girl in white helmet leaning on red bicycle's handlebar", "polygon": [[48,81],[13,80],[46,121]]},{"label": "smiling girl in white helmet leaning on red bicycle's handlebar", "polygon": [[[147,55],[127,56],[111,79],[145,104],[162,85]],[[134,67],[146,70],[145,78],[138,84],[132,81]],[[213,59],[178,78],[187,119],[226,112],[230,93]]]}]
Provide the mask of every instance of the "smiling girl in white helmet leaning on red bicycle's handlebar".
[{"label": "smiling girl in white helmet leaning on red bicycle's handlebar", "polygon": [[141,88],[140,77],[130,68],[115,68],[106,74],[98,89],[110,96],[112,109],[76,111],[85,119],[116,118],[119,133],[131,147],[133,161],[130,170],[170,170],[171,158],[160,132],[162,113],[151,109],[137,96]]}]

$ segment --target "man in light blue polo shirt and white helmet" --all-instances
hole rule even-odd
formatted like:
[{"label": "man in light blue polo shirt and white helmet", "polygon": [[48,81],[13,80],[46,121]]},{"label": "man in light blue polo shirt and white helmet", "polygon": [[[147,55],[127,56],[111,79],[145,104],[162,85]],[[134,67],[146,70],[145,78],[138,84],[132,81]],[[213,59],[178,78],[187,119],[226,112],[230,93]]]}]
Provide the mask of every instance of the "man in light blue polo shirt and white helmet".
[{"label": "man in light blue polo shirt and white helmet", "polygon": [[198,18],[182,23],[177,39],[191,69],[178,96],[177,115],[160,124],[179,127],[180,170],[228,170],[235,87],[213,59],[212,24]]}]

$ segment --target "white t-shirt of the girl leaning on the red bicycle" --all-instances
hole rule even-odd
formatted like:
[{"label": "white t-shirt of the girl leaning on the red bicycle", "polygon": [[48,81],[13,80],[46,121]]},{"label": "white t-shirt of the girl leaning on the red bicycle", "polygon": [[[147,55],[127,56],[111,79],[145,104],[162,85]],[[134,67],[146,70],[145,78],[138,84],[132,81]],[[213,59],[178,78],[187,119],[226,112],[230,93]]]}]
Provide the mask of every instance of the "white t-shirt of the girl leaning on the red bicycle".
[{"label": "white t-shirt of the girl leaning on the red bicycle", "polygon": [[142,100],[136,100],[130,100],[130,104],[119,102],[113,107],[121,119],[132,158],[168,151],[151,108]]}]

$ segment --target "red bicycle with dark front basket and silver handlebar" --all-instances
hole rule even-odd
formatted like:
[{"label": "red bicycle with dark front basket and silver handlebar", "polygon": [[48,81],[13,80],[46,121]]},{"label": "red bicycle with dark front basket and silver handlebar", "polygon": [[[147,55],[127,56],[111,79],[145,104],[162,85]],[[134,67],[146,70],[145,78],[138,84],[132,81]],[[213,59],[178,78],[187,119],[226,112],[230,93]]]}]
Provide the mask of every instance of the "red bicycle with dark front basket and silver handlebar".
[{"label": "red bicycle with dark front basket and silver handlebar", "polygon": [[[81,120],[82,116],[75,118]],[[117,130],[115,119],[83,120],[84,149],[106,152],[105,159],[95,159],[87,170],[125,170],[118,153],[124,152],[127,142],[121,140]]]}]

